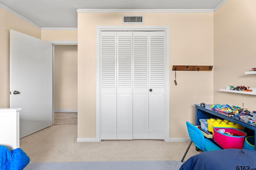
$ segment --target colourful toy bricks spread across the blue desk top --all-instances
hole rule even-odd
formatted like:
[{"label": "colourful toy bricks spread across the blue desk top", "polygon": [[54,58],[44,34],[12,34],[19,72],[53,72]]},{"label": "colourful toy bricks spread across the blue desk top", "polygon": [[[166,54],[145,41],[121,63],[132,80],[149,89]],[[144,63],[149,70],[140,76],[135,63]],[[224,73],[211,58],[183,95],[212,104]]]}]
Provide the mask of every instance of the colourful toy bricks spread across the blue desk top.
[{"label": "colourful toy bricks spread across the blue desk top", "polygon": [[[231,106],[228,104],[220,105],[220,104],[215,104],[211,106],[212,110],[215,111],[221,111],[223,113],[227,113],[229,117],[245,117],[247,115],[247,118],[252,120],[253,115],[251,115],[250,111],[246,108],[241,108],[238,106]],[[256,113],[256,111],[252,111],[252,113]]]}]

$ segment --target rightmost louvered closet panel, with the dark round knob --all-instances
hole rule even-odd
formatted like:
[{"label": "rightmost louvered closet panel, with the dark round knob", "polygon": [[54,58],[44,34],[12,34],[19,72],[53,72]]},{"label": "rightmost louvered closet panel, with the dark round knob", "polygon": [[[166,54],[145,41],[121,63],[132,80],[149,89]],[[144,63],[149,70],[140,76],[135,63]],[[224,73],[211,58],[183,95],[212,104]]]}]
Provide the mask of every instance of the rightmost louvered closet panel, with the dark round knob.
[{"label": "rightmost louvered closet panel, with the dark round knob", "polygon": [[164,139],[164,31],[149,32],[149,139]]}]

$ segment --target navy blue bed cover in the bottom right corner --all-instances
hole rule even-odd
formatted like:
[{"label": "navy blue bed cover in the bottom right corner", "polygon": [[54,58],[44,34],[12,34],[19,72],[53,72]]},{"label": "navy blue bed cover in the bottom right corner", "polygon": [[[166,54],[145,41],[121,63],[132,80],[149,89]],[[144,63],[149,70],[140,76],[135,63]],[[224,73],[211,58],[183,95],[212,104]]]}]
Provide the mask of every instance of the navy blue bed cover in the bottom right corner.
[{"label": "navy blue bed cover in the bottom right corner", "polygon": [[256,170],[256,151],[223,149],[190,157],[180,170]]}]

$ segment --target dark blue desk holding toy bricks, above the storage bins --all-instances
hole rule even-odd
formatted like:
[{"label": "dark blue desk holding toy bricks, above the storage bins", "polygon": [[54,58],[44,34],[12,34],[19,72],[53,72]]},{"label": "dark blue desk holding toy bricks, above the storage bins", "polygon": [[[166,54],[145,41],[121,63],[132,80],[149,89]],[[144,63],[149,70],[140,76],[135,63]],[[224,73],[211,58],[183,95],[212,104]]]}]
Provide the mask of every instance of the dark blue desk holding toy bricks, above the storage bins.
[{"label": "dark blue desk holding toy bricks, above the storage bins", "polygon": [[[244,117],[229,117],[227,113],[221,111],[214,111],[211,109],[211,104],[206,104],[205,107],[201,107],[200,104],[195,104],[196,106],[196,126],[200,125],[199,119],[210,119],[210,118],[222,118],[228,121],[232,121],[239,125],[245,127],[245,132],[248,133],[248,136],[254,135],[256,141],[256,125],[250,123],[250,119]],[[256,113],[251,113],[253,119],[256,119]],[[256,150],[256,145],[255,145]]]}]

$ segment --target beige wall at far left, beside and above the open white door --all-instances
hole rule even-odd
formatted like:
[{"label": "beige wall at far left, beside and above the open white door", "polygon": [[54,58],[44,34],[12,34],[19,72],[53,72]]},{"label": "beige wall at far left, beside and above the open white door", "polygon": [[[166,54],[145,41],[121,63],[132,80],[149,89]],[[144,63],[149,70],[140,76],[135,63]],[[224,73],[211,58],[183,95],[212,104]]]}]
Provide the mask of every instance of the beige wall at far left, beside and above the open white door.
[{"label": "beige wall at far left, beside and above the open white door", "polygon": [[41,38],[41,29],[0,7],[0,107],[10,107],[10,29]]}]

